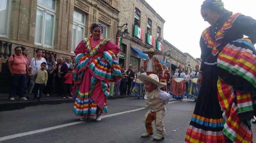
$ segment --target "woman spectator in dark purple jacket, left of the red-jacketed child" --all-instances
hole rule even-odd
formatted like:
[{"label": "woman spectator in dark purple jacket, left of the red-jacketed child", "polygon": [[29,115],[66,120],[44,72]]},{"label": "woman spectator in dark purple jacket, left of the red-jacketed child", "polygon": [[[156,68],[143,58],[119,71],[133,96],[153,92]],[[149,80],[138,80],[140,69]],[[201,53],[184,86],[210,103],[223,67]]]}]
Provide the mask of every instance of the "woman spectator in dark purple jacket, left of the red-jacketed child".
[{"label": "woman spectator in dark purple jacket, left of the red-jacketed child", "polygon": [[65,96],[65,74],[68,71],[68,66],[67,64],[64,63],[62,58],[58,59],[58,64],[57,68],[55,69],[55,74],[56,78],[55,81],[57,81],[57,90],[58,90],[58,95],[62,95],[63,97]]}]

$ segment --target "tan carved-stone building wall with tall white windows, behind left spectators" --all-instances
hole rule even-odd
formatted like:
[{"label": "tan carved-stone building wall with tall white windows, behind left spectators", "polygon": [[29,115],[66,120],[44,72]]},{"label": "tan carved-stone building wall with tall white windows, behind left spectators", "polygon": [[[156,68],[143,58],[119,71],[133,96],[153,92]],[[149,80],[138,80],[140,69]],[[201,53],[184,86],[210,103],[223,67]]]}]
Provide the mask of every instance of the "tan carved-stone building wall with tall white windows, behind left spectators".
[{"label": "tan carved-stone building wall with tall white windows, behind left spectators", "polygon": [[[52,48],[35,44],[37,0],[10,1],[9,36],[7,38],[0,36],[0,58],[4,64],[14,54],[13,49],[16,46],[26,47],[29,52],[29,58],[35,56],[36,49],[54,53],[55,58],[73,56],[74,53],[71,52],[71,44],[74,10],[85,14],[84,37],[88,37],[89,35],[88,28],[90,23],[101,22],[108,26],[107,38],[113,42],[116,40],[119,13],[117,10],[117,0],[56,0],[54,43]],[[9,73],[6,71],[2,73],[2,77],[3,75],[9,76]],[[8,82],[4,84],[8,87]],[[0,92],[3,91],[1,88],[3,86],[0,87]]]}]

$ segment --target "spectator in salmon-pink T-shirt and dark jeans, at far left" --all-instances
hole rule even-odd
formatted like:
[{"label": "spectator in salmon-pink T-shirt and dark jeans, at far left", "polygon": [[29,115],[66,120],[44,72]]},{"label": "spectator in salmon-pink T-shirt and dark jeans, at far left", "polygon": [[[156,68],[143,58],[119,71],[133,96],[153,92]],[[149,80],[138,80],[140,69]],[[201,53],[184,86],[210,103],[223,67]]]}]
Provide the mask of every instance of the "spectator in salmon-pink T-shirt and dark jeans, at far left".
[{"label": "spectator in salmon-pink T-shirt and dark jeans, at far left", "polygon": [[27,59],[22,55],[22,49],[17,46],[14,48],[13,54],[8,61],[8,69],[10,71],[10,92],[9,100],[14,101],[16,90],[20,100],[26,101],[24,94],[24,85],[26,80],[26,72],[28,74]]}]

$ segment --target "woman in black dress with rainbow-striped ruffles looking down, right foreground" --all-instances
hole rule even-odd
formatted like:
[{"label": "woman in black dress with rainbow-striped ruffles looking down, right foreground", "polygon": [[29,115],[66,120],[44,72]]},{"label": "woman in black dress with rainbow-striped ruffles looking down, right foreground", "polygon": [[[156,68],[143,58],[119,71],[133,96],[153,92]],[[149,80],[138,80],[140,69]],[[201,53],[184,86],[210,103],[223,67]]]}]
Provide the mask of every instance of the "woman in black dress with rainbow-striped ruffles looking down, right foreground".
[{"label": "woman in black dress with rainbow-striped ruffles looking down, right foreground", "polygon": [[253,142],[256,20],[232,14],[221,0],[205,0],[201,15],[211,26],[200,39],[201,87],[185,141]]}]

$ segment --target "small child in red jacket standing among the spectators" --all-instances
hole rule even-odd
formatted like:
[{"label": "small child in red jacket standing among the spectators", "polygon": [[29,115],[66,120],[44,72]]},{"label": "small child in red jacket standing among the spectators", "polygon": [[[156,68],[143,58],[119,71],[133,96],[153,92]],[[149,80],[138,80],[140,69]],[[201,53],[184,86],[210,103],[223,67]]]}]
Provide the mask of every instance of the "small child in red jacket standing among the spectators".
[{"label": "small child in red jacket standing among the spectators", "polygon": [[72,68],[68,68],[68,72],[65,74],[65,89],[66,90],[64,93],[66,93],[66,95],[63,97],[65,98],[69,98],[72,99],[71,96],[71,87],[72,87]]}]

